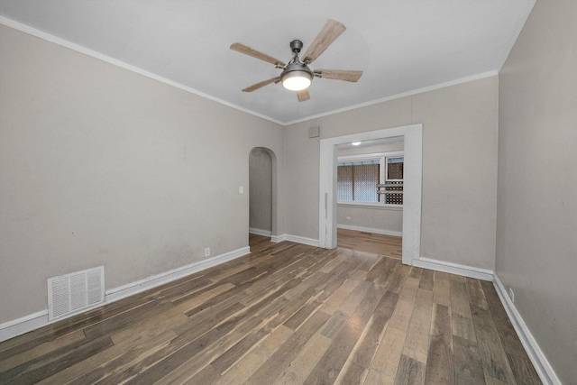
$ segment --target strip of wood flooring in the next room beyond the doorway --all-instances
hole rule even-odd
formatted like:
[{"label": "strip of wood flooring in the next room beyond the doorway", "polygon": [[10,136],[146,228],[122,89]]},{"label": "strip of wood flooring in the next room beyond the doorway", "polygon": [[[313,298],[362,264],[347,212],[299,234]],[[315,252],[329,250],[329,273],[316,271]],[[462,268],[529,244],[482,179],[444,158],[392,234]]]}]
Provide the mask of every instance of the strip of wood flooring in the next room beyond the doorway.
[{"label": "strip of wood flooring in the next room beyond the doorway", "polygon": [[371,252],[391,258],[401,259],[403,255],[400,236],[374,234],[348,229],[337,229],[336,239],[339,247],[357,252]]}]

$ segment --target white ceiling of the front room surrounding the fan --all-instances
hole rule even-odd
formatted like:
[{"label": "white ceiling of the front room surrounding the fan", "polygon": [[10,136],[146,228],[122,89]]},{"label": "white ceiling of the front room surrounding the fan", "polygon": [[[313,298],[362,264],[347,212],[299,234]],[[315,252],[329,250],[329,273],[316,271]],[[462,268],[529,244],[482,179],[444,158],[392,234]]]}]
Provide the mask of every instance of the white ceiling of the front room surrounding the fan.
[{"label": "white ceiling of the front room surrounding the fan", "polygon": [[[0,0],[0,22],[69,47],[87,48],[90,51],[84,51],[96,57],[119,60],[153,78],[288,124],[494,75],[534,4],[535,0]],[[329,18],[347,30],[310,67],[361,69],[358,83],[316,78],[309,88],[311,99],[302,103],[280,84],[241,91],[278,76],[280,70],[229,50],[232,43],[288,61],[289,41],[299,39],[307,50]]]}]

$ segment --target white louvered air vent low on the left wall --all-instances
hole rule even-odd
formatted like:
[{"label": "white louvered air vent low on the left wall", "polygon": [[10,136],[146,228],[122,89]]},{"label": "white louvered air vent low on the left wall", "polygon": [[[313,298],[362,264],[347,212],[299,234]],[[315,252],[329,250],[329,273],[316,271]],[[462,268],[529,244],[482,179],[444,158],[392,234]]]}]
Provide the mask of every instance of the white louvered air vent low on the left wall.
[{"label": "white louvered air vent low on the left wall", "polygon": [[48,279],[49,319],[75,313],[104,299],[104,266]]}]

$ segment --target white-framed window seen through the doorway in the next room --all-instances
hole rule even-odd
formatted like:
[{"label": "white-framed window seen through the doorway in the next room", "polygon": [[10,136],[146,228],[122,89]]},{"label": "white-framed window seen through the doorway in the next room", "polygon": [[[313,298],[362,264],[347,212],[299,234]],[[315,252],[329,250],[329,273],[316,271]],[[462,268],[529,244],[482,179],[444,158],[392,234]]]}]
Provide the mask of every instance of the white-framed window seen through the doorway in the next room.
[{"label": "white-framed window seen through the doorway in the next room", "polygon": [[402,152],[339,157],[338,202],[370,206],[402,205],[403,166]]}]

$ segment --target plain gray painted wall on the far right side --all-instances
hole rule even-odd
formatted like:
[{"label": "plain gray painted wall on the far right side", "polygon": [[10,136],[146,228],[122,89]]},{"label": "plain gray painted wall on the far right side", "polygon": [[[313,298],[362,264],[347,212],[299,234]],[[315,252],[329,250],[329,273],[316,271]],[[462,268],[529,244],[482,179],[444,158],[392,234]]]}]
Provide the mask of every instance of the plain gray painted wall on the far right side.
[{"label": "plain gray painted wall on the far right side", "polygon": [[577,379],[577,2],[537,1],[499,74],[497,275]]}]

